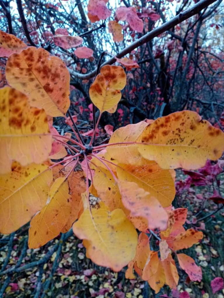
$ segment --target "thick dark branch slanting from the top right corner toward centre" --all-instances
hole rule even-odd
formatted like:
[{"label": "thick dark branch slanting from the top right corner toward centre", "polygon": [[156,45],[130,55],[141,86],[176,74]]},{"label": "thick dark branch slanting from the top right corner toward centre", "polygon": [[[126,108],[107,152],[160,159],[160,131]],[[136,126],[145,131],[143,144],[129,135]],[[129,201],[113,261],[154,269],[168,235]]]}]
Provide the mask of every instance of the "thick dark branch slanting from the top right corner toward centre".
[{"label": "thick dark branch slanting from the top right corner toward centre", "polygon": [[[179,15],[175,16],[171,20],[167,21],[166,23],[162,24],[160,27],[155,28],[154,30],[146,33],[141,38],[137,39],[135,42],[133,42],[131,45],[126,46],[122,51],[120,51],[116,57],[122,58],[137,47],[141,46],[142,44],[145,44],[148,41],[151,41],[154,37],[166,32],[167,30],[170,30],[172,27],[176,26],[177,24],[181,23],[182,21],[187,20],[188,18],[192,17],[193,15],[196,15],[199,13],[202,9],[207,7],[208,5],[214,3],[217,0],[201,0],[197,4],[193,5],[192,7],[186,9],[182,13],[179,13]],[[108,61],[102,63],[101,67],[107,64],[113,64],[116,62],[116,59],[113,57],[109,59]],[[77,77],[82,80],[88,80],[91,77],[94,77],[96,74],[96,69],[94,69],[92,72],[88,74],[80,74],[78,72],[74,72],[73,70],[69,70],[70,75]]]}]

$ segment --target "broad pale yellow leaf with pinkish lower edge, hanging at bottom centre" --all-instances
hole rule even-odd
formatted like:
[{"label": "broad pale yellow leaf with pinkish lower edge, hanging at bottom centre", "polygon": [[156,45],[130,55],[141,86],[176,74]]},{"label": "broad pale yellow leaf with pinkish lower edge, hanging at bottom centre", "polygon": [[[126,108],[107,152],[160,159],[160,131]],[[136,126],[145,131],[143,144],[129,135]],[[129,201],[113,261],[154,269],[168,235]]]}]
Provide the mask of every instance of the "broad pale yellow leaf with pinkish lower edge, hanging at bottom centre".
[{"label": "broad pale yellow leaf with pinkish lower edge, hanging at bottom centre", "polygon": [[134,259],[138,235],[121,209],[112,212],[100,201],[85,209],[73,224],[74,234],[84,239],[86,256],[99,266],[120,271]]}]

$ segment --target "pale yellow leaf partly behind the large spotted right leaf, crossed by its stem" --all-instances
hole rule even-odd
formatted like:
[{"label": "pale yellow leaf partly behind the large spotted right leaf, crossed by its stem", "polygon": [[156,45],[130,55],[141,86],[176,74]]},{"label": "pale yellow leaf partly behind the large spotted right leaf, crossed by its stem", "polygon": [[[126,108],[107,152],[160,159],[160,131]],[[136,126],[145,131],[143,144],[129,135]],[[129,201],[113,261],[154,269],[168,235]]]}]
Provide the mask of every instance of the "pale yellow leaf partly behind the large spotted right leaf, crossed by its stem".
[{"label": "pale yellow leaf partly behind the large spotted right leaf, crossed by its stem", "polygon": [[140,142],[140,137],[148,124],[141,121],[137,124],[128,124],[124,127],[118,128],[113,132],[109,144],[121,143],[107,147],[108,154],[116,159],[119,163],[141,165],[145,164],[145,159],[137,149],[136,144],[125,144],[125,142]]}]

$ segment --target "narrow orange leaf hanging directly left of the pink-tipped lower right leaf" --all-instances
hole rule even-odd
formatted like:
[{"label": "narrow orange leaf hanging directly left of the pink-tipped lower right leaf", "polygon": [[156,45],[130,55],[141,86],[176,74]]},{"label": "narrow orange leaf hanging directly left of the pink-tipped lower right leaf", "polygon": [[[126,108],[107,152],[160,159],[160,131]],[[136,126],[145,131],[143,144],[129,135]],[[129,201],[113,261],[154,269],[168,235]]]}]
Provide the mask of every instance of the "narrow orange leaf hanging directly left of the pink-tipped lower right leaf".
[{"label": "narrow orange leaf hanging directly left of the pink-tipped lower right leaf", "polygon": [[165,273],[165,283],[171,289],[176,289],[178,280],[179,280],[179,275],[177,272],[176,264],[171,256],[171,254],[169,254],[168,257],[164,261],[161,261],[161,262],[162,262],[162,266],[164,268],[164,273]]}]

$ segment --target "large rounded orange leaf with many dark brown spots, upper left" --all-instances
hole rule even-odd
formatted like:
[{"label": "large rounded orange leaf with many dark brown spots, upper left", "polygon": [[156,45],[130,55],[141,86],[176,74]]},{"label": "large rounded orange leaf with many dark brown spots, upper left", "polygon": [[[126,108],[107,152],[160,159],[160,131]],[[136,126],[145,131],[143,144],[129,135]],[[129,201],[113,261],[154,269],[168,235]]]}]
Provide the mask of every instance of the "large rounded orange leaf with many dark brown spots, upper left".
[{"label": "large rounded orange leaf with many dark brown spots, upper left", "polygon": [[52,117],[66,114],[70,105],[70,75],[59,57],[31,46],[10,55],[5,75],[10,86],[27,94],[30,105],[43,108]]}]

